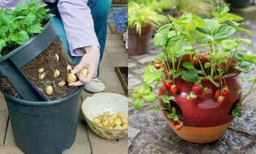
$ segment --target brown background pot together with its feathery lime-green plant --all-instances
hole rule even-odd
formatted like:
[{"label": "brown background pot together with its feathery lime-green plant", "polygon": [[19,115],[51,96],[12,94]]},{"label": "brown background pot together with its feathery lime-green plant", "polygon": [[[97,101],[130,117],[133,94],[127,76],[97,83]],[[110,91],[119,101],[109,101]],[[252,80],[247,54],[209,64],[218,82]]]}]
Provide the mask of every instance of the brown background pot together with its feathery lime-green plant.
[{"label": "brown background pot together with its feathery lime-green plant", "polygon": [[166,22],[166,17],[159,14],[152,6],[131,2],[128,4],[128,33],[130,55],[148,52],[153,27]]}]

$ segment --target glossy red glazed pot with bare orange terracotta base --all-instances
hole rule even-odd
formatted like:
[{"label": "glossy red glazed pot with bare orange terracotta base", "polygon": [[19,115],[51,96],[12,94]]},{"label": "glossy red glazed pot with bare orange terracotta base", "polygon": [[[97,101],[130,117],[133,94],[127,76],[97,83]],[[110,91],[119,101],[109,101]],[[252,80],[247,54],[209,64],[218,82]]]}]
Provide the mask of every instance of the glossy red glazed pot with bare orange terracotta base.
[{"label": "glossy red glazed pot with bare orange terracotta base", "polygon": [[[189,56],[185,56],[182,61],[188,61]],[[202,63],[206,62],[202,59]],[[234,64],[235,61],[233,60]],[[223,65],[224,67],[225,65]],[[230,71],[234,71],[234,66],[230,68]],[[168,118],[168,114],[164,113],[164,118],[175,131],[175,133],[182,139],[193,142],[193,143],[210,143],[219,139],[225,130],[228,129],[234,116],[230,114],[230,109],[234,102],[241,99],[241,94],[237,95],[237,91],[241,89],[241,85],[237,78],[239,73],[232,74],[230,76],[225,76],[225,81],[229,87],[229,95],[225,97],[225,100],[220,103],[214,97],[216,87],[209,80],[202,80],[202,86],[208,87],[209,92],[204,99],[197,97],[196,99],[188,100],[186,96],[192,90],[193,83],[184,81],[182,78],[178,77],[175,79],[175,84],[178,85],[177,94],[172,94],[168,90],[168,95],[173,95],[175,97],[173,102],[175,102],[181,109],[183,113],[182,121],[184,127],[177,131],[173,125],[173,120]],[[164,79],[165,80],[165,79]],[[223,80],[223,79],[222,79]],[[214,78],[214,81],[219,82],[219,78]],[[163,95],[163,89],[159,88],[159,95]],[[163,102],[159,101],[160,105],[163,106]]]}]

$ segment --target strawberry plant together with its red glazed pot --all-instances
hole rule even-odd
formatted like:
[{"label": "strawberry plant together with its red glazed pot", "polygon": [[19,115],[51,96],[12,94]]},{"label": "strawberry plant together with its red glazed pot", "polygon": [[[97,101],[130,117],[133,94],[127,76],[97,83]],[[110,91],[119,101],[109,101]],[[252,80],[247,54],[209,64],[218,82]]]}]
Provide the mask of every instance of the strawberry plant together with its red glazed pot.
[{"label": "strawberry plant together with its red glazed pot", "polygon": [[134,92],[135,109],[159,99],[159,105],[149,109],[163,111],[170,127],[186,141],[219,139],[234,117],[241,116],[241,104],[255,90],[256,77],[243,76],[242,81],[252,81],[248,92],[239,83],[239,74],[256,65],[256,56],[244,48],[252,43],[232,36],[236,31],[250,36],[252,32],[240,27],[243,23],[237,20],[242,17],[228,11],[218,6],[211,19],[191,13],[170,17],[172,23],[160,27],[154,37],[155,45],[164,50],[145,70],[145,84]]}]

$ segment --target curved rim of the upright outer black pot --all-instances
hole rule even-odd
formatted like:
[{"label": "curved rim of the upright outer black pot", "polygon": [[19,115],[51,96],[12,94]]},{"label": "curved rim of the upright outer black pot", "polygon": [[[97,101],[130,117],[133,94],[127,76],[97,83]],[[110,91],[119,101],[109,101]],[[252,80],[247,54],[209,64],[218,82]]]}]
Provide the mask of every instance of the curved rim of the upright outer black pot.
[{"label": "curved rim of the upright outer black pot", "polygon": [[12,95],[7,94],[6,92],[3,92],[3,95],[4,95],[4,97],[6,97],[6,99],[10,99],[10,101],[13,101],[15,103],[22,104],[22,105],[27,105],[27,106],[52,106],[52,105],[55,105],[55,104],[60,104],[63,101],[67,101],[68,99],[70,99],[70,97],[74,97],[74,95],[79,94],[79,92],[81,92],[81,90],[83,90],[83,88],[84,88],[84,86],[76,88],[76,89],[72,90],[70,95],[67,95],[66,97],[63,97],[62,99],[57,99],[57,100],[54,100],[54,101],[26,101],[24,99],[19,99],[17,97],[13,97]]}]

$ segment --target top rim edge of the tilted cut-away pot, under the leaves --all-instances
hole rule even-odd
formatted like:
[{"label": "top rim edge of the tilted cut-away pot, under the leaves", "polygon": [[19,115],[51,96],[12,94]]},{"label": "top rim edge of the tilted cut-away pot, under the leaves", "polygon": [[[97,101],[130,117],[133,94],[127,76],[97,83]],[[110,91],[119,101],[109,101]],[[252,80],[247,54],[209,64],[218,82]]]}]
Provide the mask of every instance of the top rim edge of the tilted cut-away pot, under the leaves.
[{"label": "top rim edge of the tilted cut-away pot, under the leaves", "polygon": [[31,42],[35,41],[35,39],[39,38],[42,33],[44,33],[45,31],[47,31],[47,27],[50,27],[50,26],[51,26],[52,20],[53,20],[53,19],[50,18],[50,19],[47,21],[47,23],[44,25],[44,30],[43,30],[40,34],[34,36],[33,38],[30,38],[24,45],[20,45],[18,48],[15,48],[15,49],[12,50],[11,52],[9,52],[7,55],[4,55],[4,56],[0,59],[0,63],[1,63],[1,62],[4,62],[6,59],[9,59],[10,57],[12,57],[12,56],[15,55],[16,53],[18,53],[20,50],[22,50],[23,48],[26,48],[26,46],[30,45]]}]

